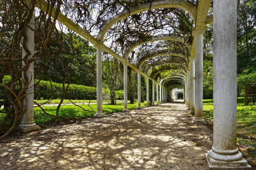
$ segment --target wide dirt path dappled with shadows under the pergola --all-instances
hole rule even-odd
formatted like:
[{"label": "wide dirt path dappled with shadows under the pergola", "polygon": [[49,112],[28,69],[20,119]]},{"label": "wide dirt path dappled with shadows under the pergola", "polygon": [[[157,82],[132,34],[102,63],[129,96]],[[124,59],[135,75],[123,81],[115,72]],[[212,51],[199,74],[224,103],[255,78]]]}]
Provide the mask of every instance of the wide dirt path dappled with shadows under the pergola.
[{"label": "wide dirt path dappled with shadows under the pergola", "polygon": [[175,102],[60,124],[1,141],[0,169],[207,170],[212,132],[192,119]]}]

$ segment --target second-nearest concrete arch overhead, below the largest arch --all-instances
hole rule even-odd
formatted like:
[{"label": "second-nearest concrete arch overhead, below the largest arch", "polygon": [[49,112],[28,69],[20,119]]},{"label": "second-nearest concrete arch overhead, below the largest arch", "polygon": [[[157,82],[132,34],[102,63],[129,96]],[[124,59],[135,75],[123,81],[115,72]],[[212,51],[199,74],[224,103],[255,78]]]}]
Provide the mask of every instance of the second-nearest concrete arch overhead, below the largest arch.
[{"label": "second-nearest concrete arch overhead, below the largest arch", "polygon": [[148,41],[143,41],[143,42],[136,42],[133,45],[131,45],[128,50],[126,51],[124,58],[125,60],[128,60],[129,55],[131,53],[131,51],[133,51],[134,48],[136,48],[137,46],[140,46],[142,44],[146,44],[146,43],[150,43],[150,42],[154,42],[154,41],[163,41],[163,40],[171,40],[171,41],[179,41],[183,44],[185,44],[185,46],[188,47],[188,50],[190,51],[191,49],[191,45],[188,43],[185,43],[185,40],[183,37],[180,36],[160,36],[160,37],[152,37],[151,39],[149,39]]}]

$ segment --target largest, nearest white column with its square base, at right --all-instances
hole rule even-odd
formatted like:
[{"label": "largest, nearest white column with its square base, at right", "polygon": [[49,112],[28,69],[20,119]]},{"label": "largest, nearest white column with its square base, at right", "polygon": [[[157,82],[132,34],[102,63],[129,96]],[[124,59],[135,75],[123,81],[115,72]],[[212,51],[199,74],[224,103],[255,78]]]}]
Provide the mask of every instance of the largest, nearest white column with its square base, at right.
[{"label": "largest, nearest white column with its square base, at right", "polygon": [[237,3],[213,5],[213,146],[206,154],[209,169],[251,168],[236,147]]}]

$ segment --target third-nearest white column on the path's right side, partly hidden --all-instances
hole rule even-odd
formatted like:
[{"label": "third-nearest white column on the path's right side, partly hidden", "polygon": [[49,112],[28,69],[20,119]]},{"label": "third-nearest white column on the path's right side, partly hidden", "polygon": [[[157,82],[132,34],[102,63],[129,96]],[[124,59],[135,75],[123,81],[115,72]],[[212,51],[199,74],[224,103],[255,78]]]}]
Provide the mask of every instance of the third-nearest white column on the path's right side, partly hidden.
[{"label": "third-nearest white column on the path's right side, partly hidden", "polygon": [[195,114],[195,61],[190,60],[190,112]]}]

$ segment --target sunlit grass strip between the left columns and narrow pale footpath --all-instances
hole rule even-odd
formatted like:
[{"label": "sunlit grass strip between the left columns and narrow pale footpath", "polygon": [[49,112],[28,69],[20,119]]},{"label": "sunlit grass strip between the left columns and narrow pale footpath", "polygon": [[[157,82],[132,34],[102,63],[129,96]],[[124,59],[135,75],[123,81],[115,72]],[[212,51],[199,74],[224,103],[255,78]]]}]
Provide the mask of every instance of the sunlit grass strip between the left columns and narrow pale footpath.
[{"label": "sunlit grass strip between the left columns and narrow pale footpath", "polygon": [[[88,106],[88,104],[81,104],[79,105],[83,109],[91,110]],[[83,109],[75,106],[75,105],[62,105],[59,110],[59,116],[62,117],[92,117],[96,111],[97,111],[97,104],[90,104],[91,108],[93,109],[93,112],[87,112]],[[128,109],[134,109],[138,105],[135,102],[134,104],[128,103]],[[146,106],[146,102],[141,102],[141,106]],[[42,108],[49,114],[56,115],[56,109],[57,106],[42,106]],[[117,103],[116,105],[111,104],[102,104],[102,112],[104,114],[110,114],[113,112],[118,112],[123,110],[123,103]],[[34,108],[34,121],[37,124],[44,124],[45,121],[48,121],[52,119],[52,117],[49,117],[48,115],[44,114],[42,110],[39,107]]]}]

